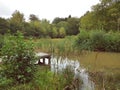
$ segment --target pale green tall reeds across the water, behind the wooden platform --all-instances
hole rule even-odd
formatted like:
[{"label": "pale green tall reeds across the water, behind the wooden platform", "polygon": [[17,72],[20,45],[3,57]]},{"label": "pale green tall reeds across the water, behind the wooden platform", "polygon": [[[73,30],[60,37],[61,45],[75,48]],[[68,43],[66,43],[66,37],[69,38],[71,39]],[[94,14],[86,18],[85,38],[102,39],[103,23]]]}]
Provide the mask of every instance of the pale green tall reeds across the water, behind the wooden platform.
[{"label": "pale green tall reeds across the water, behind the wooden platform", "polygon": [[36,39],[34,40],[36,52],[47,52],[53,55],[69,56],[80,53],[75,47],[75,36],[68,36],[64,39]]}]

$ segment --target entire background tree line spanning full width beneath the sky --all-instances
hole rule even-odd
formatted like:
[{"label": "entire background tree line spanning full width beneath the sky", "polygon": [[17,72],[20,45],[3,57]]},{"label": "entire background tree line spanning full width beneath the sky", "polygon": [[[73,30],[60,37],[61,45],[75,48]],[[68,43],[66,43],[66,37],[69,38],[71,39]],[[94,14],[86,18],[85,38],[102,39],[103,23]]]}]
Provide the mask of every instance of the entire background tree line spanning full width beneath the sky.
[{"label": "entire background tree line spanning full width beneath the sky", "polygon": [[77,35],[80,29],[119,31],[120,1],[100,0],[100,3],[92,6],[92,10],[80,18],[71,15],[56,17],[52,23],[46,19],[40,20],[34,14],[30,14],[29,21],[25,21],[24,14],[19,11],[13,12],[9,19],[0,17],[0,34],[20,31],[25,36],[64,38],[67,35]]}]

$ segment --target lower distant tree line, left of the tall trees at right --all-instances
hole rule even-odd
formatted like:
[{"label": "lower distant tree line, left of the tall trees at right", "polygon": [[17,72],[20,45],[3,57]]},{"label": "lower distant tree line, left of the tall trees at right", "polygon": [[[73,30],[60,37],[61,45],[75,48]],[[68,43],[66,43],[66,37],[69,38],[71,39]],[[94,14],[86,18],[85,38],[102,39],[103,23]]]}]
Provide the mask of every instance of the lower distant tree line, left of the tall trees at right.
[{"label": "lower distant tree line, left of the tall trees at right", "polygon": [[55,18],[52,23],[40,20],[30,14],[29,21],[25,21],[24,14],[15,11],[9,19],[0,18],[0,34],[22,32],[25,36],[64,38],[66,35],[79,33],[79,18]]}]

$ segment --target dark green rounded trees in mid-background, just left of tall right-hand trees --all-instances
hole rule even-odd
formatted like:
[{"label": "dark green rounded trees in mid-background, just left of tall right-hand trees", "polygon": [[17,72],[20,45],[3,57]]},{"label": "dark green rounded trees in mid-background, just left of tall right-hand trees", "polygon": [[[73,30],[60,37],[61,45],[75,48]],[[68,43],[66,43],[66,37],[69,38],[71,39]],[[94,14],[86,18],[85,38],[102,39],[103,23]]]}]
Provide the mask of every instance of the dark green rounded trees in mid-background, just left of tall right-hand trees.
[{"label": "dark green rounded trees in mid-background, just left of tall right-hand trees", "polygon": [[55,18],[52,23],[58,28],[58,31],[61,27],[64,27],[66,35],[79,33],[79,18],[71,16],[68,18]]}]

